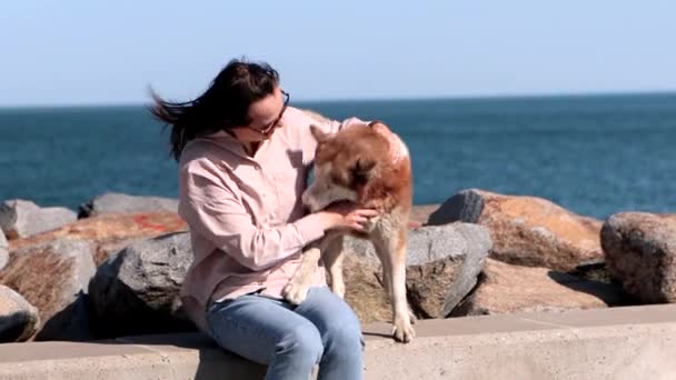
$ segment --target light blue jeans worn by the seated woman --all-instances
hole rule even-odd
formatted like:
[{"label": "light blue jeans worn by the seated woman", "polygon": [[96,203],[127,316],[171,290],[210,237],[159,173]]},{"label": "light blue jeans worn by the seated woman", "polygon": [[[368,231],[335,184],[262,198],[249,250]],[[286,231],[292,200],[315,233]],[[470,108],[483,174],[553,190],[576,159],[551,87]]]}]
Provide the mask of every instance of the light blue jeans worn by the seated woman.
[{"label": "light blue jeans worn by the seated woman", "polygon": [[266,379],[364,378],[364,340],[350,307],[327,287],[310,288],[298,307],[258,293],[213,302],[207,323],[216,342],[268,364]]}]

